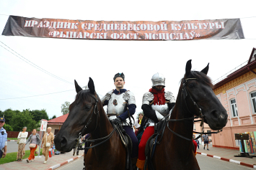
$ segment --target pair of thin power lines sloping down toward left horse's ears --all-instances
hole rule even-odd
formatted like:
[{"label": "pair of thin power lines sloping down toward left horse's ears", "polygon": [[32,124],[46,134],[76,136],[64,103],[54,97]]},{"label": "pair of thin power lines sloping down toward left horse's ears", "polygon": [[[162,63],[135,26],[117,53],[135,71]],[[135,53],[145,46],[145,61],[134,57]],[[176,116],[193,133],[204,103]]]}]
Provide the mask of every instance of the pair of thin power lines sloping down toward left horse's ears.
[{"label": "pair of thin power lines sloping down toward left horse's ears", "polygon": [[[1,42],[1,41],[0,41]],[[1,42],[2,44],[4,44],[4,42]],[[4,44],[6,47],[8,47],[6,44]],[[0,44],[0,46],[1,47],[3,47],[1,44]],[[6,47],[3,47],[4,49],[6,49]],[[10,47],[8,47],[9,49],[11,49]],[[8,52],[11,52],[9,49],[6,49]],[[39,67],[38,65],[35,65],[33,62],[30,62],[30,60],[27,60],[25,57],[23,57],[22,55],[19,55],[19,53],[17,53],[17,52],[15,52],[14,51],[14,49],[11,49],[12,50],[12,55],[15,55],[16,57],[18,57],[19,59],[21,59],[21,60],[23,60],[24,62],[27,62],[27,64],[29,64],[29,65],[31,65],[32,67],[35,67],[37,70],[40,70],[41,72],[45,72],[45,74],[47,74],[47,75],[50,75],[50,76],[52,76],[52,77],[54,77],[54,78],[56,78],[56,79],[58,79],[58,80],[61,80],[61,81],[63,81],[63,82],[66,82],[66,83],[69,83],[69,84],[71,84],[71,85],[74,85],[74,83],[72,83],[72,82],[69,82],[69,81],[67,81],[67,80],[64,80],[64,79],[62,79],[61,77],[58,77],[57,75],[53,75],[52,73],[50,73],[50,72],[48,72],[48,71],[46,71],[46,70],[44,70],[43,68],[41,68],[41,67]],[[17,54],[14,54],[14,52]],[[19,57],[19,56],[20,57]]]}]

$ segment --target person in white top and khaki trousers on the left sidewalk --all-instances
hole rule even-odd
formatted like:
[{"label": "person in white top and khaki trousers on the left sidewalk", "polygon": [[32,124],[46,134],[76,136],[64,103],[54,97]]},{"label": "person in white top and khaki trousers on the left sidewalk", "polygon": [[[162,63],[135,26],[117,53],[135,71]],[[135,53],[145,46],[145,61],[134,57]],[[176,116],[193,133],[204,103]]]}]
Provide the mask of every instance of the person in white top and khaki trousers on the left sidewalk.
[{"label": "person in white top and khaki trousers on the left sidewalk", "polygon": [[25,152],[23,150],[25,149],[26,138],[28,135],[26,131],[27,131],[27,127],[23,127],[22,132],[19,132],[19,135],[18,135],[18,139],[20,139],[20,141],[19,141],[19,147],[18,147],[18,153],[17,153],[17,161],[22,161],[22,157],[25,155]]}]

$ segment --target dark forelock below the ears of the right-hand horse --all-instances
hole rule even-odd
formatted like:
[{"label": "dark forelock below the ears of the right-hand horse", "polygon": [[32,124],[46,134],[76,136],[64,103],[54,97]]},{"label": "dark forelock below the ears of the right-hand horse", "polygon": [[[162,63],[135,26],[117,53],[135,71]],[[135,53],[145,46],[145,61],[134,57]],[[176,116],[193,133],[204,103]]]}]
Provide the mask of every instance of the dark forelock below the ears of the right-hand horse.
[{"label": "dark forelock below the ears of the right-hand horse", "polygon": [[186,77],[186,75],[180,80],[180,82],[183,82],[184,78],[197,78],[199,82],[202,82],[203,84],[209,85],[211,88],[214,87],[211,78],[208,77],[205,73],[203,72],[198,72],[198,71],[191,71],[190,75]]}]

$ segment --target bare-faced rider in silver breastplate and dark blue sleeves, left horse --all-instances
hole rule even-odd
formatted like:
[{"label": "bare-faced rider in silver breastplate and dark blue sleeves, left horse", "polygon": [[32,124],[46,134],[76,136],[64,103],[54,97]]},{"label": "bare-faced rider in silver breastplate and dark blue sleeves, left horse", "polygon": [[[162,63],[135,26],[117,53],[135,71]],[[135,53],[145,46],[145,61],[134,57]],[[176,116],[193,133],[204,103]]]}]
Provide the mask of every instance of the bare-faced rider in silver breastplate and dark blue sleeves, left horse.
[{"label": "bare-faced rider in silver breastplate and dark blue sleeves, left horse", "polygon": [[123,88],[125,85],[125,75],[117,73],[114,76],[115,90],[108,92],[102,99],[102,105],[107,105],[107,116],[114,124],[122,125],[125,132],[130,136],[133,143],[133,151],[131,155],[134,169],[136,169],[136,161],[138,158],[138,139],[136,138],[133,128],[129,126],[130,116],[135,113],[136,101],[131,91]]}]

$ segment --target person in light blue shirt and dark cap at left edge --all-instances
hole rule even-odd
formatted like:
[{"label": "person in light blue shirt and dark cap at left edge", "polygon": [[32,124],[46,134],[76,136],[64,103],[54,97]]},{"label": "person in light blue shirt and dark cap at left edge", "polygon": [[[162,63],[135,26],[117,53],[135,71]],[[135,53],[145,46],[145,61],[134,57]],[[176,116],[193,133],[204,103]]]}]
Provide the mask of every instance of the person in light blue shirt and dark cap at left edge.
[{"label": "person in light blue shirt and dark cap at left edge", "polygon": [[[3,128],[5,123],[5,118],[0,117],[0,159],[6,156],[7,152],[7,133]],[[4,148],[4,152],[2,149]]]}]

